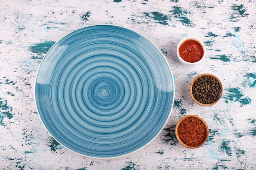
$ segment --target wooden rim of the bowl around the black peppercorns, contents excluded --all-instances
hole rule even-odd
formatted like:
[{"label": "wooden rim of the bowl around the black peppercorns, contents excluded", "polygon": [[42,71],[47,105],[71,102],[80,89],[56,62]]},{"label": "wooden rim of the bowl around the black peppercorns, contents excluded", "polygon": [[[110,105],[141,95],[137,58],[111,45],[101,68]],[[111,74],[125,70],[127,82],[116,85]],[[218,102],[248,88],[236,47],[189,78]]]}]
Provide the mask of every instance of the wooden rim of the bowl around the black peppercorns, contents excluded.
[{"label": "wooden rim of the bowl around the black peppercorns, contents excluded", "polygon": [[[205,76],[209,76],[209,77],[211,77],[211,78],[216,79],[216,81],[218,81],[218,83],[219,83],[219,85],[220,85],[220,89],[221,89],[220,97],[219,97],[215,102],[210,103],[210,104],[203,104],[203,103],[198,102],[198,101],[195,99],[195,97],[193,96],[193,92],[192,92],[192,87],[193,87],[195,81],[197,81],[199,78],[205,77]],[[219,80],[216,76],[211,75],[211,74],[208,74],[208,73],[204,73],[204,74],[200,74],[200,75],[196,76],[196,77],[193,79],[193,81],[192,81],[191,84],[190,84],[189,91],[190,91],[190,95],[191,95],[192,99],[193,99],[197,104],[200,104],[200,105],[202,105],[202,106],[211,106],[211,105],[213,105],[213,104],[216,104],[216,103],[220,100],[220,98],[221,98],[221,96],[222,96],[222,91],[223,91],[223,89],[222,89],[222,84],[221,84],[220,80]]]}]

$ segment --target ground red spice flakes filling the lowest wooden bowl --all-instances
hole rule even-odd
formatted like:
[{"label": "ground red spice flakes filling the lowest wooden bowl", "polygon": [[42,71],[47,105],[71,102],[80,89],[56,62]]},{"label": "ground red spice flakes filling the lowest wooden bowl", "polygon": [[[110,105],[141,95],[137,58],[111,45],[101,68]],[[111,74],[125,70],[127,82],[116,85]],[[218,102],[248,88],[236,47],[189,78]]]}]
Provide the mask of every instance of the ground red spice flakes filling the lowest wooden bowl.
[{"label": "ground red spice flakes filling the lowest wooden bowl", "polygon": [[203,122],[195,117],[187,117],[178,127],[180,140],[188,146],[198,146],[206,137],[206,128]]}]

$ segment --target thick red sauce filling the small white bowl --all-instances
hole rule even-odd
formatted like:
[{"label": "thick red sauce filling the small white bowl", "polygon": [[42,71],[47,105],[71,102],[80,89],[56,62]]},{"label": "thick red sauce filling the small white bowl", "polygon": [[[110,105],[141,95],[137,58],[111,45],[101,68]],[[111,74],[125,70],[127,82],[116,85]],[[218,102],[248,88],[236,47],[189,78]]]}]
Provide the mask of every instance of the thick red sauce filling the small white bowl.
[{"label": "thick red sauce filling the small white bowl", "polygon": [[180,44],[180,57],[186,62],[198,62],[204,55],[202,45],[196,40],[186,40]]}]

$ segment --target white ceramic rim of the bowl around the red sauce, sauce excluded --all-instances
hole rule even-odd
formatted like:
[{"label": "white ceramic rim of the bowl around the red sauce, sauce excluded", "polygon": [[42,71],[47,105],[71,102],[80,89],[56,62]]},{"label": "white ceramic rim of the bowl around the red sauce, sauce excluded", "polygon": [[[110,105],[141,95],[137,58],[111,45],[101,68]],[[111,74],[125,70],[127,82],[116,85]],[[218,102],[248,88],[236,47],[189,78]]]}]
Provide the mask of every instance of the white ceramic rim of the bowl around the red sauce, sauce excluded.
[{"label": "white ceramic rim of the bowl around the red sauce, sauce excluded", "polygon": [[[203,51],[204,51],[204,54],[203,54],[203,57],[198,61],[198,62],[186,62],[185,60],[182,59],[182,57],[180,56],[180,53],[179,53],[179,48],[180,48],[180,45],[182,44],[182,42],[186,41],[186,40],[195,40],[197,42],[199,42],[203,48]],[[195,64],[198,64],[200,62],[202,62],[202,60],[204,59],[206,55],[206,47],[204,45],[204,42],[202,42],[202,40],[198,39],[198,38],[194,38],[194,37],[187,37],[187,38],[184,38],[182,39],[179,44],[177,45],[177,57],[178,59],[180,60],[180,62],[186,66],[194,66]]]}]

